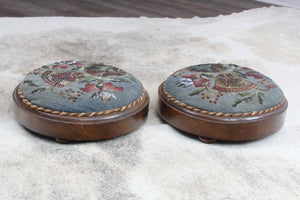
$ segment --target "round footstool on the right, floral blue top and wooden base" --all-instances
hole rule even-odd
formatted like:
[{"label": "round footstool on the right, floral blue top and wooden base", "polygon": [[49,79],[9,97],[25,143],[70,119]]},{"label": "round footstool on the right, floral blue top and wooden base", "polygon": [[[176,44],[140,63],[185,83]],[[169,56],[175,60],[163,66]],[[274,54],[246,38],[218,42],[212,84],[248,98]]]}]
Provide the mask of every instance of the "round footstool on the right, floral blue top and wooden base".
[{"label": "round footstool on the right, floral blue top and wooden base", "polygon": [[161,117],[205,143],[255,140],[278,131],[287,100],[267,76],[235,64],[176,71],[159,87]]}]

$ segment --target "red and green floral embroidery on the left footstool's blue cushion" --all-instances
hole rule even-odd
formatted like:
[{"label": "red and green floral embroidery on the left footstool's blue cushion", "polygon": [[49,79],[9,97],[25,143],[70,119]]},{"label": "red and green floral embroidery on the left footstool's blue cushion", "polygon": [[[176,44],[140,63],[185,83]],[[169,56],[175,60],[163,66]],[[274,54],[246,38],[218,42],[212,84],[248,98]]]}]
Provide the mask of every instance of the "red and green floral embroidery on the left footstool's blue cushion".
[{"label": "red and green floral embroidery on the left footstool's blue cushion", "polygon": [[[49,90],[51,93],[73,102],[76,102],[85,93],[92,93],[90,100],[99,99],[103,103],[110,104],[117,99],[115,95],[117,92],[124,91],[123,87],[118,87],[113,82],[137,82],[135,77],[119,68],[87,61],[62,61],[53,65],[44,65],[29,75],[40,76],[41,80],[46,83],[46,86],[40,86],[33,83],[32,80],[25,80],[23,84],[35,88],[31,93]],[[79,84],[78,90],[64,89],[75,82]],[[80,87],[81,84],[82,87]]]}]

